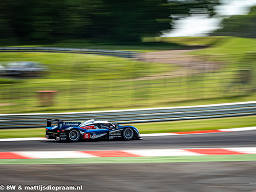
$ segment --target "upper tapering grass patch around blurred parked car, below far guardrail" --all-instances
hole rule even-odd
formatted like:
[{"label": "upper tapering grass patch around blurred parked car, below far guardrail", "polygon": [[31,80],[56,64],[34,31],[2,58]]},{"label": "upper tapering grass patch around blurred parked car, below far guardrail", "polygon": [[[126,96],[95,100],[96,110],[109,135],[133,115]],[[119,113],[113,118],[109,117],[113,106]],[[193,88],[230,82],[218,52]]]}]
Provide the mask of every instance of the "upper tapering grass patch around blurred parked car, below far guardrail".
[{"label": "upper tapering grass patch around blurred parked car, below far guardrail", "polygon": [[[176,69],[163,63],[147,63],[133,59],[72,53],[0,53],[0,62],[4,65],[11,61],[37,61],[45,63],[50,69],[48,79],[129,79],[143,75],[152,75]],[[150,66],[154,70],[147,70]],[[35,83],[44,80],[34,80]],[[8,83],[8,82],[7,82]]]}]

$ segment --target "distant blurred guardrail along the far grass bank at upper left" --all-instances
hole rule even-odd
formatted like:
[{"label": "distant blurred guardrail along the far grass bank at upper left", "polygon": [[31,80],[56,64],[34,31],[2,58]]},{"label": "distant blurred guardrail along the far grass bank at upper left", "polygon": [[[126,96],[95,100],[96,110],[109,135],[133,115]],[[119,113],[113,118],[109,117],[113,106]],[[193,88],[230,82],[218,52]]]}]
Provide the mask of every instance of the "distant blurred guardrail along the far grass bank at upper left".
[{"label": "distant blurred guardrail along the far grass bank at upper left", "polygon": [[113,51],[100,49],[78,49],[78,48],[50,48],[50,47],[0,47],[0,52],[52,52],[52,53],[81,53],[108,55],[125,58],[135,58],[133,51]]}]

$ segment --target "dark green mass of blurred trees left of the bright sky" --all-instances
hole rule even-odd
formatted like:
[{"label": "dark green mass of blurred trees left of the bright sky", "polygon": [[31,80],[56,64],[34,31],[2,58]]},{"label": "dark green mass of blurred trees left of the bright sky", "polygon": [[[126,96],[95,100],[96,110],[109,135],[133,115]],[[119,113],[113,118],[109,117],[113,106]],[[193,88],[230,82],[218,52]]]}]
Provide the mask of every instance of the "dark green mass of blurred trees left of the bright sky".
[{"label": "dark green mass of blurred trees left of the bright sky", "polygon": [[[218,0],[0,0],[0,38],[140,41],[172,28],[173,14],[213,15]],[[177,18],[177,17],[176,17]]]}]

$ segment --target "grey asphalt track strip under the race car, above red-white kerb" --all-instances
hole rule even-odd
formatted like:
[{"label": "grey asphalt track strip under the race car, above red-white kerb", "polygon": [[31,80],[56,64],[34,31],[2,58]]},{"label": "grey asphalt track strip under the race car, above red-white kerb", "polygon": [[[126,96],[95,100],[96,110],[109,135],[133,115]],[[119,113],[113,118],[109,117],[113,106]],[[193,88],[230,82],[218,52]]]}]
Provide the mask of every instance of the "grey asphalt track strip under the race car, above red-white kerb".
[{"label": "grey asphalt track strip under the race car, above red-white kerb", "polygon": [[58,142],[55,140],[3,141],[0,142],[0,152],[96,151],[254,146],[256,146],[256,131],[242,131],[210,134],[144,137],[143,140],[133,141],[81,141],[76,143]]}]

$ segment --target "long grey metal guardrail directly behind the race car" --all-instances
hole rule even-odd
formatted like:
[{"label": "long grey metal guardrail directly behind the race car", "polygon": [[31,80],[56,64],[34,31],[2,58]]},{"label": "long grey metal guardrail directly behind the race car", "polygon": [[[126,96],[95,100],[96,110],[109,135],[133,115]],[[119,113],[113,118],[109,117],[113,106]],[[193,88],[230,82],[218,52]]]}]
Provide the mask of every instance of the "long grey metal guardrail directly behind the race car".
[{"label": "long grey metal guardrail directly behind the race car", "polygon": [[74,113],[0,114],[0,129],[45,127],[46,119],[64,121],[108,120],[115,123],[140,123],[256,115],[256,101]]}]

